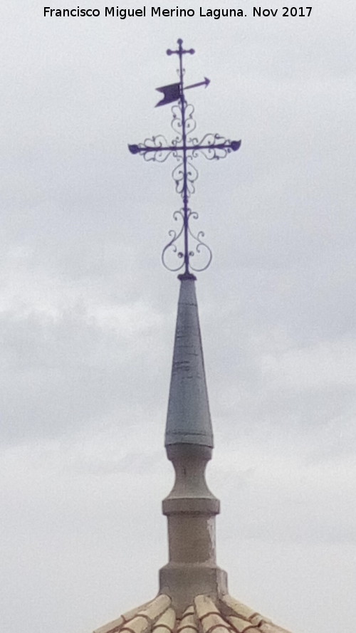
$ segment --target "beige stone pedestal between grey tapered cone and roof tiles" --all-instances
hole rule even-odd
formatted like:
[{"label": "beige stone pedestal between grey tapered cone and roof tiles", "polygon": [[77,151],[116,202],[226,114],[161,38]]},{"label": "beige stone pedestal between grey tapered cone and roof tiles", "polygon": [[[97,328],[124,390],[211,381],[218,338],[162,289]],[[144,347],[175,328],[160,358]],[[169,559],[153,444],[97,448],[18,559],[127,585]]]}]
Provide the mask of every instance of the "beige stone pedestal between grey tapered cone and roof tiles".
[{"label": "beige stone pedestal between grey tapered cone and roof tiles", "polygon": [[209,491],[204,471],[211,449],[192,444],[167,446],[176,481],[162,509],[168,520],[169,563],[159,571],[159,592],[169,595],[177,614],[195,596],[216,600],[227,593],[226,572],[216,565],[215,516],[219,500]]}]

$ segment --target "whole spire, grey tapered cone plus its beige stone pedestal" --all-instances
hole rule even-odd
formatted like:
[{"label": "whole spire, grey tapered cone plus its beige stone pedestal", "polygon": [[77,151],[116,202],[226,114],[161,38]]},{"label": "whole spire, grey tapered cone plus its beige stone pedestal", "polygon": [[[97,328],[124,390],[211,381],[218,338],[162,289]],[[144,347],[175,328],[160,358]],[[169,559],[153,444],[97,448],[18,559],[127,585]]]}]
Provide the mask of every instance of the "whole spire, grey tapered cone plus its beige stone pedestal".
[{"label": "whole spire, grey tapered cone plus its beige stone pedestal", "polygon": [[216,565],[215,516],[219,500],[206,486],[213,433],[199,327],[195,278],[179,277],[177,326],[169,389],[165,446],[176,480],[163,501],[168,520],[169,563],[159,572],[159,590],[182,614],[199,594],[227,592],[226,573]]}]

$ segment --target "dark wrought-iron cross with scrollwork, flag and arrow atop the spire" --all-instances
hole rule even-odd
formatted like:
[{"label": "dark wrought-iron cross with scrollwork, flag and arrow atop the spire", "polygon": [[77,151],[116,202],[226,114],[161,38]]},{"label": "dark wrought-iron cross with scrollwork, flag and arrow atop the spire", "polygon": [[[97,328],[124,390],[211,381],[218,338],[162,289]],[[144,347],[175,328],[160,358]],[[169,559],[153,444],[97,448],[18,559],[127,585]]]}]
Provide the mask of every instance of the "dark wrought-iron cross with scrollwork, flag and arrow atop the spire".
[{"label": "dark wrought-iron cross with scrollwork, flag and arrow atop the spire", "polygon": [[[209,79],[204,78],[204,81],[184,86],[185,69],[183,67],[183,56],[187,54],[193,55],[195,51],[193,48],[185,51],[181,39],[177,43],[177,51],[168,49],[167,55],[177,55],[179,57],[179,69],[177,70],[179,82],[157,88],[160,93],[163,93],[163,97],[157,103],[157,106],[173,103],[174,101],[178,102],[172,106],[173,118],[171,123],[172,129],[177,136],[170,144],[163,135],[153,136],[152,138],[147,138],[139,145],[129,145],[129,150],[132,154],[142,155],[145,160],[164,162],[169,155],[177,159],[178,164],[174,167],[172,176],[176,191],[182,197],[183,206],[178,211],[174,211],[173,217],[175,221],[181,222],[181,226],[177,231],[174,231],[174,229],[169,231],[171,239],[162,251],[162,263],[170,271],[180,271],[184,268],[183,275],[179,277],[187,278],[194,277],[192,271],[206,270],[212,257],[211,249],[202,241],[204,232],[199,231],[197,235],[194,235],[189,224],[192,219],[198,219],[197,211],[192,211],[189,206],[189,198],[195,192],[194,183],[198,177],[197,169],[192,161],[199,156],[199,153],[209,160],[224,158],[231,151],[236,152],[236,150],[239,150],[241,141],[231,141],[219,134],[211,133],[204,135],[200,141],[196,137],[191,136],[197,124],[193,117],[194,108],[187,103],[185,98],[185,90],[197,88],[199,85],[205,85],[206,87],[210,82]],[[182,247],[179,247],[178,245],[181,243]],[[204,256],[204,253],[205,258],[201,261],[199,256]],[[175,259],[175,263],[170,264],[168,262],[169,254],[177,256],[179,261],[177,262],[177,259]],[[196,258],[194,263],[192,263],[194,256]],[[198,260],[197,263],[195,263],[196,260]]]}]

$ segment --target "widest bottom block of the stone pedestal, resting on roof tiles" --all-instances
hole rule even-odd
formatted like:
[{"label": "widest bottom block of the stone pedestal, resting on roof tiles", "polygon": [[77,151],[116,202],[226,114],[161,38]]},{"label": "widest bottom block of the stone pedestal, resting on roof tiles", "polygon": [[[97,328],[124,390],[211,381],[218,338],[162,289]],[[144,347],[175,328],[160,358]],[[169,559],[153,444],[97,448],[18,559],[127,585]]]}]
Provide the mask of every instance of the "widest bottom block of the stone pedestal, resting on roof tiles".
[{"label": "widest bottom block of the stone pedestal, resting on roof tiles", "polygon": [[168,563],[159,570],[159,593],[169,595],[177,617],[182,617],[197,595],[216,601],[227,594],[227,574],[216,566]]}]

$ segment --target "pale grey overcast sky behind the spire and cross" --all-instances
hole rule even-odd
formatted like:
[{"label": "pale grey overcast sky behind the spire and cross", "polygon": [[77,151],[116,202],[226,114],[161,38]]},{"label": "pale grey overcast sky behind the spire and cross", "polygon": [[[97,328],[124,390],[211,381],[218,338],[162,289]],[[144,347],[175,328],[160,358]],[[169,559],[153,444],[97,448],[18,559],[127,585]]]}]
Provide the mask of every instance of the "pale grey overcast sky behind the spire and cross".
[{"label": "pale grey overcast sky behind the spire and cross", "polygon": [[7,633],[90,633],[153,598],[167,563],[179,283],[160,253],[180,202],[173,159],[146,163],[127,144],[174,137],[169,106],[154,106],[177,80],[165,51],[179,37],[196,49],[187,81],[211,80],[189,94],[197,136],[242,139],[197,159],[192,198],[214,252],[197,293],[218,563],[234,597],[293,633],[355,622],[355,4],[319,0],[308,18],[284,4],[258,18],[240,0],[246,17],[219,20],[152,18],[146,4],[125,21],[4,4]]}]

